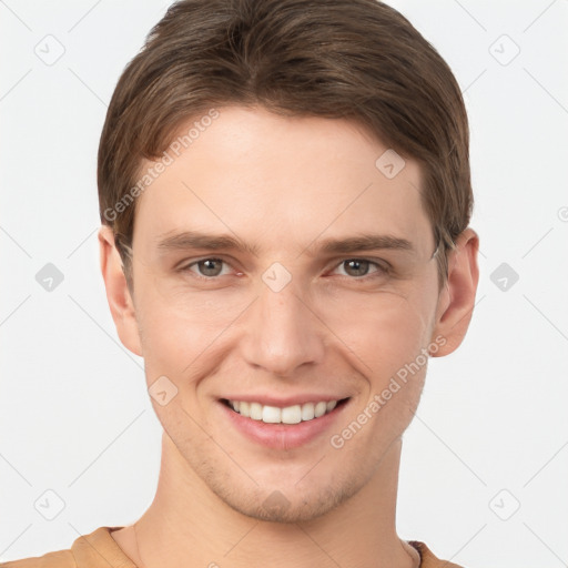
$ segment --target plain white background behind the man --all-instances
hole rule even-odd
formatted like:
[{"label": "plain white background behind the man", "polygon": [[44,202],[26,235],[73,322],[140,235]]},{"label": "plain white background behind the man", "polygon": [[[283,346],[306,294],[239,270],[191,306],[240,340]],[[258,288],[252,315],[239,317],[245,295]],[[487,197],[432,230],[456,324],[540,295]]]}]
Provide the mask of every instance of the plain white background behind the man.
[{"label": "plain white background behind the man", "polygon": [[[430,361],[405,435],[398,531],[471,568],[566,566],[568,1],[390,3],[465,92],[481,251],[469,334]],[[106,306],[95,160],[115,82],[166,7],[0,2],[0,560],[130,524],[155,491],[161,427]],[[48,34],[65,50],[52,65],[34,53]],[[47,263],[64,275],[52,292]],[[506,291],[501,263],[519,276]],[[65,505],[53,520],[34,508],[48,489]]]}]

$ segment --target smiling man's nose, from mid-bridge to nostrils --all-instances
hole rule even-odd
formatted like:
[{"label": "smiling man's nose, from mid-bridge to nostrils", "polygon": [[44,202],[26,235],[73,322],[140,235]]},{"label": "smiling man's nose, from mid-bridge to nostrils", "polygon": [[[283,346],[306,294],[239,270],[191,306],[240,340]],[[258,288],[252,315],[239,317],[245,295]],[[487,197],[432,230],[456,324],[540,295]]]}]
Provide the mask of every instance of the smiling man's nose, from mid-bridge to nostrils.
[{"label": "smiling man's nose, from mid-bridge to nostrils", "polygon": [[294,375],[302,365],[321,363],[324,356],[325,326],[293,284],[280,292],[260,286],[241,341],[250,365],[281,377]]}]

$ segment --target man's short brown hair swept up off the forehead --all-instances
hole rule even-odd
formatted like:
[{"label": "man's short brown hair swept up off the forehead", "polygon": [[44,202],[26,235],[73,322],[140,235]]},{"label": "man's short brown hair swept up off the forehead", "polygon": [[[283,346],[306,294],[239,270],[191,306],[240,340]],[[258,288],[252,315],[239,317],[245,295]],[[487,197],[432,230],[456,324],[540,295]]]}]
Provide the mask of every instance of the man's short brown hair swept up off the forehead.
[{"label": "man's short brown hair swept up off the forehead", "polygon": [[162,155],[191,118],[226,104],[349,119],[415,159],[444,284],[447,253],[473,210],[467,114],[444,59],[376,0],[170,7],[122,73],[99,148],[101,222],[113,230],[129,281],[135,202],[124,200],[129,191],[133,200],[142,160]]}]

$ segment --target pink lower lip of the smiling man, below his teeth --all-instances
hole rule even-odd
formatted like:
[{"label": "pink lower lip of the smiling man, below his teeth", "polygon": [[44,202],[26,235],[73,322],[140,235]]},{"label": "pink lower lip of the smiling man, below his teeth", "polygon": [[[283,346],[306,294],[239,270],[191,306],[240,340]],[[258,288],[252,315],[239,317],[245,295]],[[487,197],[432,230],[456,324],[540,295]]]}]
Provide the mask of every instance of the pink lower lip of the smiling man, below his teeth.
[{"label": "pink lower lip of the smiling man, below his teeth", "polygon": [[333,425],[348,403],[349,400],[345,400],[331,413],[312,420],[298,424],[267,424],[241,416],[223,402],[219,402],[222,410],[239,432],[257,444],[275,449],[297,448],[314,440]]}]

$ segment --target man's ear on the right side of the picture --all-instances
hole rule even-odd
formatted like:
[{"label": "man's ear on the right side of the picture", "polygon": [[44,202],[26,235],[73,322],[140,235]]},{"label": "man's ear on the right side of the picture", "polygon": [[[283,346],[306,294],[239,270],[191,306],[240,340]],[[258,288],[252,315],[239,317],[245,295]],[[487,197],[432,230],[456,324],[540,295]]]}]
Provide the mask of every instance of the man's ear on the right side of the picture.
[{"label": "man's ear on the right side of the picture", "polygon": [[457,349],[469,327],[479,281],[478,250],[479,237],[468,227],[458,235],[456,247],[448,255],[448,278],[438,297],[432,334],[433,338],[443,336],[446,343],[432,354],[434,357]]}]

